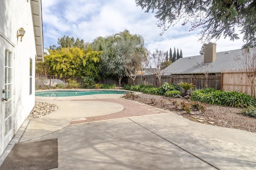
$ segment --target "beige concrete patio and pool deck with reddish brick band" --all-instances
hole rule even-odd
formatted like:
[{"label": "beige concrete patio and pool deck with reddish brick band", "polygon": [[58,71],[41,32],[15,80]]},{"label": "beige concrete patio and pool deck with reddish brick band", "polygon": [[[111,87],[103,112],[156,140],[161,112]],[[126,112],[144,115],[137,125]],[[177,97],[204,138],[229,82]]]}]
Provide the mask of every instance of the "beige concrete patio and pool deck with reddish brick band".
[{"label": "beige concrete patio and pool deck with reddish brick band", "polygon": [[192,122],[120,96],[36,97],[58,110],[26,120],[16,140],[58,138],[61,170],[255,169],[255,133]]}]

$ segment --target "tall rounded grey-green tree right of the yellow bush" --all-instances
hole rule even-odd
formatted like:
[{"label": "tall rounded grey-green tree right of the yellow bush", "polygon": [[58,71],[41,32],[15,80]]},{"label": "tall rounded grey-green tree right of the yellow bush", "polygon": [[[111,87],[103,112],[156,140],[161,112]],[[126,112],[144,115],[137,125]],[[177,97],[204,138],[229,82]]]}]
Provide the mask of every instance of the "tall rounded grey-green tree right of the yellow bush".
[{"label": "tall rounded grey-green tree right of the yellow bush", "polygon": [[130,34],[127,29],[108,37],[102,48],[102,70],[106,75],[118,77],[119,86],[124,76],[135,79],[146,59],[146,48],[141,35]]}]

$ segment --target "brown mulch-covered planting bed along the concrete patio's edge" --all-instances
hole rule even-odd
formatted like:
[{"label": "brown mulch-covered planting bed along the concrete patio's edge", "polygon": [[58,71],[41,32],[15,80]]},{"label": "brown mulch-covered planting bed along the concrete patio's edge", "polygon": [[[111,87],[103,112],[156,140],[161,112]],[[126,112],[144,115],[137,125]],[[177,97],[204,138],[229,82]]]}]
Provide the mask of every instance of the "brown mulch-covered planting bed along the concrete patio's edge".
[{"label": "brown mulch-covered planting bed along the concrete patio's edge", "polygon": [[[128,98],[128,100],[132,100],[132,98]],[[181,108],[176,108],[174,105],[172,105],[171,101],[177,100],[178,102],[181,102],[182,100],[188,101],[190,99],[139,94],[138,98],[135,98],[134,100],[150,106],[172,111],[198,123],[240,129],[254,133],[256,132],[256,118],[242,115],[241,108],[206,104],[205,113],[201,113],[201,111],[196,110],[192,110],[191,113],[186,113],[186,111],[182,110]]]}]

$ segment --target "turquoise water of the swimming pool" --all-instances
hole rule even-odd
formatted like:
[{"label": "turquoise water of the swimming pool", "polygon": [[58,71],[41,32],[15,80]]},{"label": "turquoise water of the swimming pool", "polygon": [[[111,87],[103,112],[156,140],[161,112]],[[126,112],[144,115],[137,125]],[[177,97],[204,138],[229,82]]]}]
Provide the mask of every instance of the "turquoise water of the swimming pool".
[{"label": "turquoise water of the swimming pool", "polygon": [[114,91],[114,90],[94,90],[94,91],[74,91],[74,90],[56,90],[56,91],[45,91],[36,92],[36,96],[42,97],[68,97],[68,96],[84,96],[90,94],[124,94],[125,91]]}]

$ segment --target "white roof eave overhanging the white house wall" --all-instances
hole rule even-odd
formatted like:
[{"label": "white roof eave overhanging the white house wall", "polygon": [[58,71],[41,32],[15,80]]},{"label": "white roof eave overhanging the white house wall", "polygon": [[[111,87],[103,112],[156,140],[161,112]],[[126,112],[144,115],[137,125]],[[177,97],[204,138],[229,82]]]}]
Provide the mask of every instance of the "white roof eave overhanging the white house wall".
[{"label": "white roof eave overhanging the white house wall", "polygon": [[32,0],[30,2],[36,43],[36,61],[44,62],[44,41],[41,0]]}]

